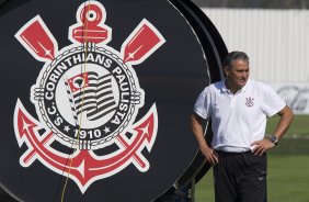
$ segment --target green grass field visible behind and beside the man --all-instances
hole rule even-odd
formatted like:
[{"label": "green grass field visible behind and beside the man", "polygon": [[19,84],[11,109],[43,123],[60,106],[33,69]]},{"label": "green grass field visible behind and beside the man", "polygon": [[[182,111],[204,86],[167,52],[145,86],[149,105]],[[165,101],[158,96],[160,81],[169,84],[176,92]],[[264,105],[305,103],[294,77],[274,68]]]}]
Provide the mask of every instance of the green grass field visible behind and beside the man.
[{"label": "green grass field visible behind and beside the man", "polygon": [[[268,120],[274,132],[278,116]],[[268,202],[309,201],[309,115],[297,115],[286,136],[268,153]],[[213,170],[195,187],[195,202],[214,202]]]}]

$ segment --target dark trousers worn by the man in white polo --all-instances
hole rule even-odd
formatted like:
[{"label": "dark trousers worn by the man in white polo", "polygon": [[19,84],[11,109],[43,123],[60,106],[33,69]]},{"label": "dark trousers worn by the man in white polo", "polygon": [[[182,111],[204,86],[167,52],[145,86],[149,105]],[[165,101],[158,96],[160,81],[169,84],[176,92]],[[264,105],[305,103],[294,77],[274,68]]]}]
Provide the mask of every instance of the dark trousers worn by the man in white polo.
[{"label": "dark trousers worn by the man in white polo", "polygon": [[264,202],[266,194],[266,154],[217,152],[214,166],[216,202]]}]

